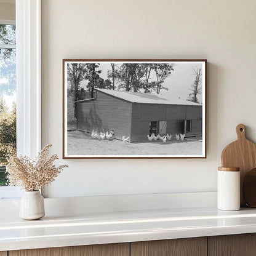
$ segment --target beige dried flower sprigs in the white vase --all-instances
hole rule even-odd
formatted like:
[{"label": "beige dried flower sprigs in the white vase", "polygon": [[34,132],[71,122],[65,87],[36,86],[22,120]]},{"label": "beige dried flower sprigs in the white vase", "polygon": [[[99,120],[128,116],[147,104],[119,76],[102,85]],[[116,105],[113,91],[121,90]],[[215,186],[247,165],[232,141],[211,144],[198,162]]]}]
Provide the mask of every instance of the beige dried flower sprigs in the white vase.
[{"label": "beige dried flower sprigs in the white vase", "polygon": [[9,156],[6,166],[9,186],[21,186],[26,191],[37,191],[44,185],[52,183],[60,171],[68,166],[57,167],[54,165],[58,156],[57,154],[48,156],[51,146],[44,146],[35,161],[28,158],[28,156],[18,157],[17,154]]}]

